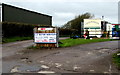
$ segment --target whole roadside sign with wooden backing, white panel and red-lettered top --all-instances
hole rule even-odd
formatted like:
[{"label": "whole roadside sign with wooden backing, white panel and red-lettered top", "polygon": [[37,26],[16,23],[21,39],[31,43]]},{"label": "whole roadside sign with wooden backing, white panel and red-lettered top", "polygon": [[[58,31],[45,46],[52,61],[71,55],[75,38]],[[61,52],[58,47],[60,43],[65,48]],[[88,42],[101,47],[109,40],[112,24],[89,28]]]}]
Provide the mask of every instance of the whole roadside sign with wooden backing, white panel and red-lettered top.
[{"label": "whole roadside sign with wooden backing, white panel and red-lettered top", "polygon": [[34,43],[39,47],[58,47],[57,28],[34,28]]}]

